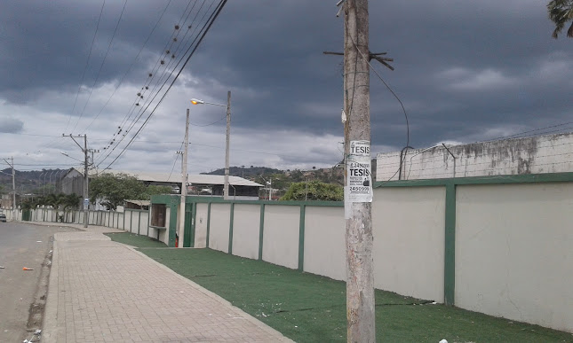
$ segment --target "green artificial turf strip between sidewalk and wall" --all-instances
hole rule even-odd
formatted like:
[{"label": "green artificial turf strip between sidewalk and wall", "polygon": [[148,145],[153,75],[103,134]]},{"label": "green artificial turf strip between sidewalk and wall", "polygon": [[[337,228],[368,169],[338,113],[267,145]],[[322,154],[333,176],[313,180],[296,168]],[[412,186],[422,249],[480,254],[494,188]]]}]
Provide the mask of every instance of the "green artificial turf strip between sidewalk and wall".
[{"label": "green artificial turf strip between sidewalk and wall", "polygon": [[[143,247],[140,251],[290,339],[346,341],[343,282],[211,249]],[[437,343],[441,339],[449,343],[573,342],[573,335],[567,332],[432,304],[393,292],[377,290],[376,304],[378,342]]]}]

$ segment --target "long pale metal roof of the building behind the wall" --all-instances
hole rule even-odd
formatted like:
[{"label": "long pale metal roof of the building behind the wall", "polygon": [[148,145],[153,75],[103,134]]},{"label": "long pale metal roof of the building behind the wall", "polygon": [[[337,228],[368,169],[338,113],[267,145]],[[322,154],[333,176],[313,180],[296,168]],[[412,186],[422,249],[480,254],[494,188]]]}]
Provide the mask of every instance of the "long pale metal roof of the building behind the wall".
[{"label": "long pale metal roof of the building behind the wall", "polygon": [[[109,174],[127,174],[137,177],[140,181],[148,181],[155,183],[180,183],[181,175],[179,173],[153,173],[141,171],[125,171],[125,170],[106,170],[105,173]],[[101,174],[101,173],[100,173]],[[187,175],[187,183],[191,184],[223,184],[225,183],[224,175]],[[254,183],[250,180],[243,179],[239,176],[229,175],[229,184],[234,186],[252,186],[263,187],[262,184]]]}]

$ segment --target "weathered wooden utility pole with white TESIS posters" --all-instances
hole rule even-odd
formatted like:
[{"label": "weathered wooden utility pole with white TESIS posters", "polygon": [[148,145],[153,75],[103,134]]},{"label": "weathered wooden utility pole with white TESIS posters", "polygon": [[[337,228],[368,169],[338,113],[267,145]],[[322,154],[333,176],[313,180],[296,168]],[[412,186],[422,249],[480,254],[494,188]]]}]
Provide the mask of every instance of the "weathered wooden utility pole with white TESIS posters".
[{"label": "weathered wooden utility pole with white TESIS posters", "polygon": [[368,0],[344,6],[347,341],[375,342]]}]

